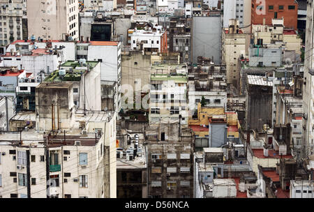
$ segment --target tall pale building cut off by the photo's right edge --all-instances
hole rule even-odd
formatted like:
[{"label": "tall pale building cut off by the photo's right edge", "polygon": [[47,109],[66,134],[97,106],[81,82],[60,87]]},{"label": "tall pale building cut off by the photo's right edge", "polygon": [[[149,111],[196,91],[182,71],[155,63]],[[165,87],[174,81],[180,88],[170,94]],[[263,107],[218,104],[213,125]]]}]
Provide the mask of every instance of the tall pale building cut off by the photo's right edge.
[{"label": "tall pale building cut off by the photo's right edge", "polygon": [[314,112],[313,112],[313,81],[314,81],[314,1],[307,1],[307,20],[306,20],[306,45],[305,45],[305,55],[304,55],[304,86],[303,86],[303,131],[302,131],[302,158],[306,158],[313,154],[313,124],[314,124]]}]

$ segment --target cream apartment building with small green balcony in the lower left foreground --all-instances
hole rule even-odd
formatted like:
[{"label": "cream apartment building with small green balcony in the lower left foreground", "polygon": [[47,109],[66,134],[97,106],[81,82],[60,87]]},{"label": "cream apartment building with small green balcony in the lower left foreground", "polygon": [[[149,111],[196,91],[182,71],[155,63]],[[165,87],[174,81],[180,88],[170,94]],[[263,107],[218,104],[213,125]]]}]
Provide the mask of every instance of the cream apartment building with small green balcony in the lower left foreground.
[{"label": "cream apartment building with small green balcony in the lower left foreground", "polygon": [[19,133],[1,134],[1,197],[116,197],[115,114],[89,112],[75,119],[77,127],[84,124],[84,135],[76,127],[54,136],[34,129],[20,139]]}]

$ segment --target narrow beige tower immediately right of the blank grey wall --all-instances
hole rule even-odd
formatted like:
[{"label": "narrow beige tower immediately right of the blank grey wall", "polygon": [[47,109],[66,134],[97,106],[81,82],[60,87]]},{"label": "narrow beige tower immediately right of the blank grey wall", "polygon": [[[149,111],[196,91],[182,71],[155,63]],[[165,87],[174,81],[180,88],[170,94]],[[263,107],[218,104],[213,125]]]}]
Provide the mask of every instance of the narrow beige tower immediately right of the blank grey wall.
[{"label": "narrow beige tower immediately right of the blank grey wall", "polygon": [[223,30],[222,59],[227,70],[227,84],[233,84],[239,88],[240,57],[246,56],[247,35],[239,29],[239,20],[229,20],[229,26]]}]

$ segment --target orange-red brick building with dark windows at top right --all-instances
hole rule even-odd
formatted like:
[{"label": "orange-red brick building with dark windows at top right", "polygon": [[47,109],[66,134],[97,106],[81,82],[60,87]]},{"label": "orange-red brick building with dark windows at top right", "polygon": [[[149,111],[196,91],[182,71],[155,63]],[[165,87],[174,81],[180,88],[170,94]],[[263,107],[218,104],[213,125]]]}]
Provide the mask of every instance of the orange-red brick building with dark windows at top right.
[{"label": "orange-red brick building with dark windows at top right", "polygon": [[[298,4],[294,0],[264,0],[264,15],[257,14],[256,8],[260,0],[252,0],[251,3],[251,24],[263,24],[263,18],[266,18],[265,24],[271,25],[271,19],[274,18],[274,13],[277,12],[277,18],[284,18],[286,28],[297,29]],[[254,8],[253,8],[254,6]],[[274,9],[269,10],[269,6],[274,6]],[[279,10],[279,6],[283,6],[283,10]],[[294,6],[294,10],[289,10],[288,6]],[[262,13],[260,10],[259,13]]]}]

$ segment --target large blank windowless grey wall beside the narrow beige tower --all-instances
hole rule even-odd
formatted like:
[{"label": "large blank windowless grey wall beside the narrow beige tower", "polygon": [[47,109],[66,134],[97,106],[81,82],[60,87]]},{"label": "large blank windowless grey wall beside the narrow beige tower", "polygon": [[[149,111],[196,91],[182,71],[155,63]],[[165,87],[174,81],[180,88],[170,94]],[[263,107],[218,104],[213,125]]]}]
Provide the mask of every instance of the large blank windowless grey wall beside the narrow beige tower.
[{"label": "large blank windowless grey wall beside the narrow beige tower", "polygon": [[214,62],[221,62],[221,20],[219,17],[193,17],[192,59],[197,56],[214,56]]}]

